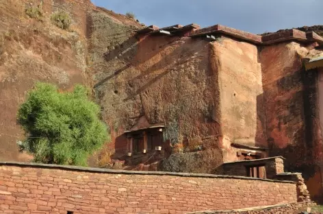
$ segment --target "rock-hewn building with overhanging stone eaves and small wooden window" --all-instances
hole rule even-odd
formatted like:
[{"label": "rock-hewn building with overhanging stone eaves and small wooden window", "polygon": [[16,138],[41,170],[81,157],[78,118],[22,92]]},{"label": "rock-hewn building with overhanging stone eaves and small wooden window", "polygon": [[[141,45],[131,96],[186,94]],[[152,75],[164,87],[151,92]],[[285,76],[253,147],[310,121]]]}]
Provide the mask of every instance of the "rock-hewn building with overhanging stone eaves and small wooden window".
[{"label": "rock-hewn building with overhanging stone eaves and small wooden window", "polygon": [[[261,36],[192,24],[134,32],[105,56],[126,63],[109,80],[117,92],[112,99],[123,106],[114,109],[121,121],[114,158],[129,169],[156,170],[181,152],[216,150],[213,167],[281,155],[287,171],[302,172],[318,198],[319,75],[305,64],[323,55],[322,44],[315,32],[298,29]],[[96,87],[104,99],[108,91],[107,83]]]}]

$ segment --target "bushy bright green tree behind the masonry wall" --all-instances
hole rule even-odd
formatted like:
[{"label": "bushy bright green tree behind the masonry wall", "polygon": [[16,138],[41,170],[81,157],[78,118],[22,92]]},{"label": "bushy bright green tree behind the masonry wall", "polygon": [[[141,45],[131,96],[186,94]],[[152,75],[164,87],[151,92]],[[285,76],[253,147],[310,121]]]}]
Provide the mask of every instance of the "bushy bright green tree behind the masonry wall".
[{"label": "bushy bright green tree behind the masonry wall", "polygon": [[81,85],[60,93],[52,84],[37,83],[18,110],[27,134],[21,150],[33,154],[38,163],[87,165],[88,155],[109,137],[99,113]]}]

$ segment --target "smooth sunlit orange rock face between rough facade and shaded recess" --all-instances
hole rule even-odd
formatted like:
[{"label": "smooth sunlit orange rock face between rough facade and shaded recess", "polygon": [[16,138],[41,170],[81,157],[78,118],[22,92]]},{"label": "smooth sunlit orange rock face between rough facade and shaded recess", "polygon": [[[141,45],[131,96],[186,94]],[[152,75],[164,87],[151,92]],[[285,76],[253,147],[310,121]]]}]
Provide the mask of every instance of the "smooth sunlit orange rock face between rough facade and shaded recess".
[{"label": "smooth sunlit orange rock face between rough facade and shaded recess", "polygon": [[231,143],[266,147],[261,65],[257,46],[223,38],[212,43],[220,88],[220,127],[224,162],[237,160]]}]

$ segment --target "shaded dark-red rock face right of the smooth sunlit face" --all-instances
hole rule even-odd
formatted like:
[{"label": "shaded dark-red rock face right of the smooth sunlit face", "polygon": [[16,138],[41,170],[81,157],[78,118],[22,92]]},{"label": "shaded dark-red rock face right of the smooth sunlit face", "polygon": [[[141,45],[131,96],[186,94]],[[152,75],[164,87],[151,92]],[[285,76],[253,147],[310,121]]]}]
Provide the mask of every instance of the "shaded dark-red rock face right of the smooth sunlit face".
[{"label": "shaded dark-red rock face right of the smooth sunlit face", "polygon": [[296,43],[273,45],[261,50],[263,100],[268,138],[278,147],[302,144],[302,62]]}]

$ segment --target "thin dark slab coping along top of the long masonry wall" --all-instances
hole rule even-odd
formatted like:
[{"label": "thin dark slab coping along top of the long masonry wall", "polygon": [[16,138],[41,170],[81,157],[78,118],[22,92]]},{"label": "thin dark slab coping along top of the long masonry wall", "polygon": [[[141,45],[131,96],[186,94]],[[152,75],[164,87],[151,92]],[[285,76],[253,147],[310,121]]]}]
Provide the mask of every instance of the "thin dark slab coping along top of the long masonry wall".
[{"label": "thin dark slab coping along top of the long masonry wall", "polygon": [[291,181],[291,180],[271,180],[271,179],[263,179],[263,178],[250,178],[250,177],[244,177],[244,176],[191,174],[191,173],[179,173],[179,172],[168,172],[168,171],[127,171],[127,170],[101,169],[101,168],[90,168],[90,167],[76,167],[76,166],[70,166],[70,165],[21,163],[21,162],[14,162],[14,161],[0,161],[0,166],[35,167],[35,168],[44,168],[44,169],[64,169],[64,170],[70,170],[70,171],[86,171],[86,172],[103,173],[103,174],[181,176],[181,177],[192,177],[192,178],[232,178],[232,179],[240,179],[240,180],[259,180],[259,181],[267,181],[267,182],[282,182],[282,183],[296,184],[296,182]]}]

